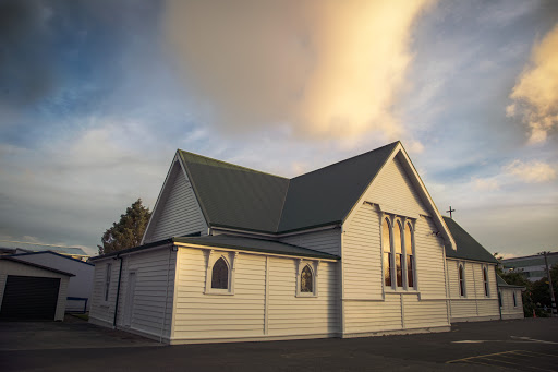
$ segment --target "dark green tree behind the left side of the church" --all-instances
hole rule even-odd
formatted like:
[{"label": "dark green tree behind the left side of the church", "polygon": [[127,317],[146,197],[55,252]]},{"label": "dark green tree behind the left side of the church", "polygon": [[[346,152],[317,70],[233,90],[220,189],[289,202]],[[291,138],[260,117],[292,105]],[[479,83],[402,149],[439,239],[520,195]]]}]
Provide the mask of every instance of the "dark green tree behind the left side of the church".
[{"label": "dark green tree behind the left side of the church", "polygon": [[142,200],[138,199],[126,208],[126,213],[120,216],[118,223],[113,223],[112,227],[105,231],[100,239],[102,247],[97,245],[99,254],[140,245],[150,216],[149,208],[143,206]]}]

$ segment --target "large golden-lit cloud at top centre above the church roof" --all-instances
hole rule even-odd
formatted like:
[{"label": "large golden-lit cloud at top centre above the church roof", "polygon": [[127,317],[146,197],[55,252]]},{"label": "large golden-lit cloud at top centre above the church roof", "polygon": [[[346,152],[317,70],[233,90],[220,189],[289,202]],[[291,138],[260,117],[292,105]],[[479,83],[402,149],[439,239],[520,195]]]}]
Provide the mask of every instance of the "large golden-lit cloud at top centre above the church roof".
[{"label": "large golden-lit cloud at top centre above the church roof", "polygon": [[389,141],[427,0],[170,1],[169,50],[229,133],[288,125],[305,139]]}]

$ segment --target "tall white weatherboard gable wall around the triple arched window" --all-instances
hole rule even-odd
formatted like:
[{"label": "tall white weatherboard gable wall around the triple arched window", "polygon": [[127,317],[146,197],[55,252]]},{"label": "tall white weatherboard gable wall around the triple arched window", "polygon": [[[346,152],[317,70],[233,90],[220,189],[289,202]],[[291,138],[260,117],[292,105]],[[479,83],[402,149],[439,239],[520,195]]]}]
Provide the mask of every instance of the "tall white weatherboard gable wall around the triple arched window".
[{"label": "tall white weatherboard gable wall around the triple arched window", "polygon": [[[397,157],[380,171],[363,200],[367,203],[356,205],[343,225],[343,335],[446,329],[449,319],[442,241],[432,235],[438,229],[432,218],[424,216],[429,211]],[[381,211],[417,218],[416,290],[384,289]]]}]

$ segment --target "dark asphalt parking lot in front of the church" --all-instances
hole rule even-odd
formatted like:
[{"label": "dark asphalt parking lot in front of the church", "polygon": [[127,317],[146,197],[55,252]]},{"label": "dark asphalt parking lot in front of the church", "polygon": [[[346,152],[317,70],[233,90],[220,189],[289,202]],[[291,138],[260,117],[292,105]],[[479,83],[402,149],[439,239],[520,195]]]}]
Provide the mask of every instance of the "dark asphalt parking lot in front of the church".
[{"label": "dark asphalt parking lot in front of the church", "polygon": [[461,323],[438,334],[182,346],[80,322],[0,323],[0,371],[558,371],[558,319]]}]

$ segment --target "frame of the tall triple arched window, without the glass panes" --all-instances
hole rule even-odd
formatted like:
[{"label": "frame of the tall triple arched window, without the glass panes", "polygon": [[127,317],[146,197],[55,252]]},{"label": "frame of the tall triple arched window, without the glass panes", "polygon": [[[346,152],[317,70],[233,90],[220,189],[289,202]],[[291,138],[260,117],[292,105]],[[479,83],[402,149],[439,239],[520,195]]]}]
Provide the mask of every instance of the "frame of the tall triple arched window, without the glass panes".
[{"label": "frame of the tall triple arched window, without the glass panes", "polygon": [[[389,250],[385,248],[385,237],[384,237],[384,223],[387,221],[389,228]],[[400,227],[401,233],[401,253],[396,253],[396,241],[395,235],[397,230],[395,228],[396,224]],[[410,237],[411,241],[407,241],[407,230],[410,228]],[[383,278],[383,288],[384,292],[418,292],[418,284],[417,284],[417,275],[416,275],[416,245],[415,245],[415,219],[404,216],[392,215],[388,213],[384,213],[380,219],[380,241],[381,241],[381,278]],[[410,244],[410,245],[409,245]],[[411,247],[412,254],[407,254],[408,247]],[[389,253],[389,274],[391,285],[386,284],[386,267],[385,267],[385,254]],[[401,255],[401,276],[402,276],[402,285],[398,286],[397,283],[397,267],[396,267],[396,259],[397,255]],[[409,285],[409,272],[408,272],[408,260],[409,256],[412,259],[412,275],[413,275],[413,286]]]}]

